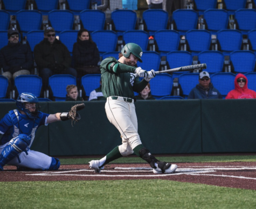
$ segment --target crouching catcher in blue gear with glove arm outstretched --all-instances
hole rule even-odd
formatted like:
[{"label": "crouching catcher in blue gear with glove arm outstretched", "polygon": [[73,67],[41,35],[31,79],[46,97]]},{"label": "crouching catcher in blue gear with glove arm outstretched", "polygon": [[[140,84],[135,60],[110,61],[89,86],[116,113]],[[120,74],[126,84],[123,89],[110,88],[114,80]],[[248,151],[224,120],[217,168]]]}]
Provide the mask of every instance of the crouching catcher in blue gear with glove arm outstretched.
[{"label": "crouching catcher in blue gear with glove arm outstretched", "polygon": [[30,150],[37,128],[51,122],[80,120],[77,111],[85,107],[84,103],[72,106],[69,112],[47,114],[40,112],[38,98],[33,93],[21,93],[16,101],[17,109],[5,114],[0,121],[0,171],[5,164],[16,165],[18,170],[40,169],[57,170],[58,158]]}]

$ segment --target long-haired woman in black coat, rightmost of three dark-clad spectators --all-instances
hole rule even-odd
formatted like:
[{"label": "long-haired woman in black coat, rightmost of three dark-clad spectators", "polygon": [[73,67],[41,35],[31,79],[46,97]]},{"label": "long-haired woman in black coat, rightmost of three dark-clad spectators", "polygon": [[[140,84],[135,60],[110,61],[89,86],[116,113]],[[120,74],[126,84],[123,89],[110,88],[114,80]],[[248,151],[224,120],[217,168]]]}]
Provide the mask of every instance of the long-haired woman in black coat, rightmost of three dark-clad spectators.
[{"label": "long-haired woman in black coat, rightmost of three dark-clad spectators", "polygon": [[79,77],[86,74],[100,74],[98,62],[100,53],[91,34],[85,28],[78,31],[77,42],[73,45],[74,67]]}]

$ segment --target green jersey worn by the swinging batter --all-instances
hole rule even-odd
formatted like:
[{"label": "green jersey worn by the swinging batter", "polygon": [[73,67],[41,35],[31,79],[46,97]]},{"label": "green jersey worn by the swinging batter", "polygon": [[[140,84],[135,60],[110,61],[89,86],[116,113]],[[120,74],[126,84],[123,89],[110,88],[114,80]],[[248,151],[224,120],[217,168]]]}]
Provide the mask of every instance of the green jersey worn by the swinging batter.
[{"label": "green jersey worn by the swinging batter", "polygon": [[136,67],[122,64],[112,56],[103,60],[100,64],[103,96],[135,98],[134,91],[139,93],[148,84],[135,77],[135,69]]}]

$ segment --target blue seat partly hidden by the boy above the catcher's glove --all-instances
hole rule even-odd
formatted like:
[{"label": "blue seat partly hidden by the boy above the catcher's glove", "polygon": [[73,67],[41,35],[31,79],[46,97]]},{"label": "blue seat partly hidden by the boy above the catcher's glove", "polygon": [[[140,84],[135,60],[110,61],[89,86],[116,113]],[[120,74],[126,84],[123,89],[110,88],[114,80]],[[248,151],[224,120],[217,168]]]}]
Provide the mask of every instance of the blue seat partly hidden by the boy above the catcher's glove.
[{"label": "blue seat partly hidden by the boy above the catcher's glove", "polygon": [[66,100],[67,85],[77,85],[77,79],[72,75],[53,75],[49,78],[49,86],[56,101]]}]

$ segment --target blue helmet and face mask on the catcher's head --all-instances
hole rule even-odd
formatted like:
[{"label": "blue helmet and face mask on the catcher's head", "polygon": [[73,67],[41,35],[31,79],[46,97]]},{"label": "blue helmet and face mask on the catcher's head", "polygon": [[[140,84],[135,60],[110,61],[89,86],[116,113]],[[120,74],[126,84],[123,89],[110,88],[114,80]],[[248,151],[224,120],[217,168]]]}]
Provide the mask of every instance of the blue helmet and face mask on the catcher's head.
[{"label": "blue helmet and face mask on the catcher's head", "polygon": [[[36,103],[36,111],[30,112],[28,109],[26,109],[25,104],[26,103]],[[38,104],[38,98],[36,95],[33,95],[33,93],[20,93],[16,100],[16,106],[19,111],[23,111],[26,113],[29,118],[37,118],[40,106]]]}]

